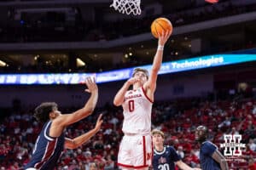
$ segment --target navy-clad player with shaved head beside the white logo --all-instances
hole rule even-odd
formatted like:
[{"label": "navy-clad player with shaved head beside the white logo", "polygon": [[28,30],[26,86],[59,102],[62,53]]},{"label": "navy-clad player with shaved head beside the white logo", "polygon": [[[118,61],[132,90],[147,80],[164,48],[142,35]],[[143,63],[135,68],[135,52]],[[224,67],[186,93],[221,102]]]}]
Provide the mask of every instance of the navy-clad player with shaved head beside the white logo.
[{"label": "navy-clad player with shaved head beside the white logo", "polygon": [[205,126],[196,127],[195,140],[201,144],[200,164],[203,170],[229,169],[225,157],[218,151],[218,147],[207,140],[208,129]]}]

